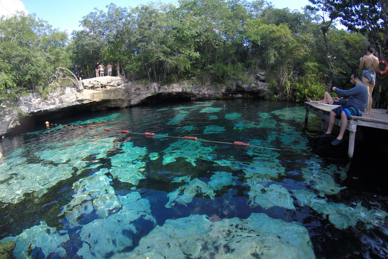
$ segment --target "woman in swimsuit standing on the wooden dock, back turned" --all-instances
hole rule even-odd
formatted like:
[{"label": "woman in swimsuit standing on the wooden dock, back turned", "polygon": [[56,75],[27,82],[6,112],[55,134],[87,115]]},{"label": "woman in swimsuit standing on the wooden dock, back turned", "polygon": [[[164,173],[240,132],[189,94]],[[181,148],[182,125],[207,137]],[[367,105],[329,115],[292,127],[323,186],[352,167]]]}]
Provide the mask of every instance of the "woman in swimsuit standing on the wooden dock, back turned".
[{"label": "woman in swimsuit standing on the wooden dock, back turned", "polygon": [[362,72],[362,82],[366,85],[369,92],[368,105],[366,106],[366,112],[364,115],[372,115],[372,92],[376,79],[375,70],[378,67],[378,58],[376,58],[373,53],[373,47],[368,47],[366,48],[366,55],[360,58],[360,69],[364,69]]}]

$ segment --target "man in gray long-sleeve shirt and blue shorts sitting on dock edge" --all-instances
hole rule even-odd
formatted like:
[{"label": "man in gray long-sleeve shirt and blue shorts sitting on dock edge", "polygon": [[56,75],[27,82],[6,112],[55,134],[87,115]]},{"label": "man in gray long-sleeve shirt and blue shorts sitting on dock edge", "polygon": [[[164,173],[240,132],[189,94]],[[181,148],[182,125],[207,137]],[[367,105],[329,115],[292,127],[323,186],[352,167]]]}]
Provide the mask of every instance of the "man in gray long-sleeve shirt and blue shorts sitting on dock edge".
[{"label": "man in gray long-sleeve shirt and blue shorts sitting on dock edge", "polygon": [[325,134],[320,135],[321,138],[331,137],[331,131],[335,124],[337,116],[341,116],[340,122],[340,134],[331,142],[331,145],[338,145],[343,142],[346,127],[348,126],[349,116],[362,116],[368,104],[368,88],[361,81],[361,75],[359,73],[353,73],[350,77],[350,82],[355,85],[351,90],[341,90],[333,87],[333,91],[339,96],[349,96],[349,100],[345,104],[334,108],[330,111],[329,126]]}]

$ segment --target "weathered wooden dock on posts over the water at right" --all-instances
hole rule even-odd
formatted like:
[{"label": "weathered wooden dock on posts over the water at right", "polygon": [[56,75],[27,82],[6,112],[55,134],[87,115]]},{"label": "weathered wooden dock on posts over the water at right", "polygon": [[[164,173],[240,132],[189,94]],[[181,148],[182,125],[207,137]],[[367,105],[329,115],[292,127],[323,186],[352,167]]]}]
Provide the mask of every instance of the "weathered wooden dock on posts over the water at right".
[{"label": "weathered wooden dock on posts over the water at right", "polygon": [[[311,112],[321,118],[321,132],[323,132],[324,122],[329,120],[330,111],[335,107],[337,107],[337,105],[305,102],[305,125],[307,126],[309,112]],[[340,126],[340,119],[337,119],[335,124]],[[388,113],[386,113],[385,109],[372,109],[372,115],[349,117],[349,124],[346,129],[349,131],[348,156],[350,158],[353,157],[354,153],[354,141],[356,139],[357,126],[382,128],[383,130],[388,130]]]}]

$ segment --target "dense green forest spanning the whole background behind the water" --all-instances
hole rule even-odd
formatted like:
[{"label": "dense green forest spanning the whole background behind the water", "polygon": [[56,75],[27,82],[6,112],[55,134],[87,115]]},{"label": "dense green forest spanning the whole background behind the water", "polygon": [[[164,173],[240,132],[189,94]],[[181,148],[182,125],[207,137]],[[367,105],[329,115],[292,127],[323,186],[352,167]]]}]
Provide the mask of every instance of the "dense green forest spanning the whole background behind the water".
[{"label": "dense green forest spanning the whole background behind the water", "polygon": [[[380,0],[367,1],[373,5],[310,2],[303,12],[276,9],[263,0],[110,4],[106,11],[86,14],[83,29],[70,39],[33,15],[2,19],[0,102],[30,91],[47,94],[59,79],[71,78],[74,64],[86,78],[93,77],[96,61],[111,62],[113,75],[167,84],[228,85],[231,78],[249,81],[250,73],[262,70],[270,85],[268,99],[305,101],[321,97],[330,86],[350,88],[350,75],[360,72],[367,46],[373,45],[380,59],[388,56]],[[348,30],[336,29],[336,22]],[[378,78],[383,88],[375,95],[384,107],[386,84],[386,78]]]}]

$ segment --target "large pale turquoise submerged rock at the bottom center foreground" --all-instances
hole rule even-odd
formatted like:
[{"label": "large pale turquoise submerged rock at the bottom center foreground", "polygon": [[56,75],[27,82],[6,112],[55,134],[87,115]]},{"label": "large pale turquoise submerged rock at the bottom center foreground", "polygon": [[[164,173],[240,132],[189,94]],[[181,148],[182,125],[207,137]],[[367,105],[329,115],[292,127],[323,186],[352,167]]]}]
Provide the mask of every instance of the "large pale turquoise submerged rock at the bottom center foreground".
[{"label": "large pale turquoise submerged rock at the bottom center foreground", "polygon": [[246,220],[211,222],[205,215],[167,220],[133,251],[111,258],[304,259],[315,255],[305,227],[252,213]]}]

